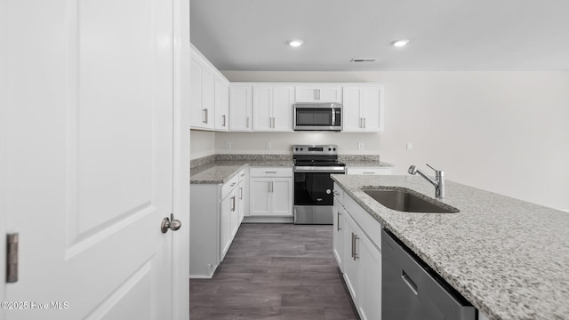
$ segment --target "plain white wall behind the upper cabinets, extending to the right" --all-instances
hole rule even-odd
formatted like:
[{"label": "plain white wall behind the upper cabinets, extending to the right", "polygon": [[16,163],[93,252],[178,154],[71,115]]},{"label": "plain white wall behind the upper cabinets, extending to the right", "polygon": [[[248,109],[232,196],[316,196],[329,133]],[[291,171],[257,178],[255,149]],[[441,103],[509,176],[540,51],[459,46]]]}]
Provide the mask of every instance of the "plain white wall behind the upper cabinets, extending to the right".
[{"label": "plain white wall behind the upper cabinets, extending to the right", "polygon": [[[340,134],[405,174],[410,164],[445,170],[448,180],[569,210],[569,72],[223,72],[230,81],[380,82],[385,132]],[[215,152],[273,152],[329,140],[295,133],[215,133]],[[289,140],[288,137],[293,137]],[[195,148],[192,132],[192,149]],[[301,139],[298,139],[301,138]],[[211,138],[210,138],[211,140]],[[405,143],[413,142],[413,150]],[[354,148],[355,146],[355,148]],[[345,152],[342,152],[345,153]],[[365,152],[364,152],[365,153]]]}]

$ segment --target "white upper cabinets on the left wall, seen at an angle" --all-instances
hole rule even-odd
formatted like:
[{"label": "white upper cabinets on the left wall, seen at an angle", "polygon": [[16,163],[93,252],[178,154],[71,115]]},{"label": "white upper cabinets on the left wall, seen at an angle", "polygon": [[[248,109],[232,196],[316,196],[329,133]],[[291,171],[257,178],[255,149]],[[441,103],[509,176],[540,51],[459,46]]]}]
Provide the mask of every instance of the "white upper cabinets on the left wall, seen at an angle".
[{"label": "white upper cabinets on the left wall, seen at an angle", "polygon": [[227,131],[228,91],[228,79],[192,45],[189,83],[191,128]]}]

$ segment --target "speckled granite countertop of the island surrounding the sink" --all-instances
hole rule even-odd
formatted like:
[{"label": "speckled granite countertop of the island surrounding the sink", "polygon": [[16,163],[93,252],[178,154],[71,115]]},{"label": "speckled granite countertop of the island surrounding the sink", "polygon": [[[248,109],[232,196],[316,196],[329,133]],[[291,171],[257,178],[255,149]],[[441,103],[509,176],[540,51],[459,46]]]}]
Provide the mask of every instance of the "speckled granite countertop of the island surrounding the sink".
[{"label": "speckled granite countertop of the island surrounding the sink", "polygon": [[490,319],[569,318],[569,213],[448,180],[440,202],[461,212],[397,212],[361,188],[435,188],[419,176],[333,180]]}]

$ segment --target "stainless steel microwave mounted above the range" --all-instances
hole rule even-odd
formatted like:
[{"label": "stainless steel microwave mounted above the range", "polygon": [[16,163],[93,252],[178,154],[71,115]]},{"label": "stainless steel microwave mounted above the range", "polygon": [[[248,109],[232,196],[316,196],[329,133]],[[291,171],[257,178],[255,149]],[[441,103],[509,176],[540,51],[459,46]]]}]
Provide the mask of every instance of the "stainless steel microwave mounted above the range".
[{"label": "stainless steel microwave mounted above the range", "polygon": [[341,103],[294,104],[294,130],[341,131]]}]

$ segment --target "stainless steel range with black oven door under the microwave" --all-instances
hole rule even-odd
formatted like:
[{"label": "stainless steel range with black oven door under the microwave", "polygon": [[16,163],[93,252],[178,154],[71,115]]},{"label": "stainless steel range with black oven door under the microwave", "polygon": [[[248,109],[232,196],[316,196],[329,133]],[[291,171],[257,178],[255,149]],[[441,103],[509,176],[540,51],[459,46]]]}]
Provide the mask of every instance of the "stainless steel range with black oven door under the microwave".
[{"label": "stainless steel range with black oven door under the microwave", "polygon": [[336,145],[294,145],[294,223],[333,224],[333,180],[346,173]]}]

